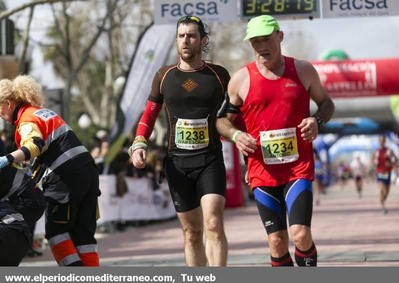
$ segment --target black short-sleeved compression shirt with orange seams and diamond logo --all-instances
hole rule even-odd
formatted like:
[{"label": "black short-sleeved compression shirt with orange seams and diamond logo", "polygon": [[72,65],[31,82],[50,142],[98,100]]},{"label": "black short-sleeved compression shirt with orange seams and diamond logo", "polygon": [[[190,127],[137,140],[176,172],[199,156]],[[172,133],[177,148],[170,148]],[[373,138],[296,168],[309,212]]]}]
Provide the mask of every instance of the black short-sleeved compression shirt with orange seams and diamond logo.
[{"label": "black short-sleeved compression shirt with orange seams and diamond logo", "polygon": [[169,152],[221,150],[216,112],[229,79],[225,68],[209,63],[197,70],[182,70],[179,64],[158,70],[148,100],[165,103]]}]

